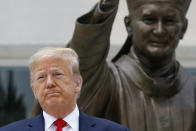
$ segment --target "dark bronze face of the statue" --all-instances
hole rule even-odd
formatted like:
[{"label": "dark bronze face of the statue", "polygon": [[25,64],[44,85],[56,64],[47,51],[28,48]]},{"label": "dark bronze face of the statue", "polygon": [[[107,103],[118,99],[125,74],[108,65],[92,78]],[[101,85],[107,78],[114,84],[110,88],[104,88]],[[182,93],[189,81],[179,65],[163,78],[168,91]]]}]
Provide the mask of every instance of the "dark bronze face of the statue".
[{"label": "dark bronze face of the statue", "polygon": [[148,58],[170,57],[186,31],[184,15],[168,2],[143,4],[129,18],[133,49]]}]

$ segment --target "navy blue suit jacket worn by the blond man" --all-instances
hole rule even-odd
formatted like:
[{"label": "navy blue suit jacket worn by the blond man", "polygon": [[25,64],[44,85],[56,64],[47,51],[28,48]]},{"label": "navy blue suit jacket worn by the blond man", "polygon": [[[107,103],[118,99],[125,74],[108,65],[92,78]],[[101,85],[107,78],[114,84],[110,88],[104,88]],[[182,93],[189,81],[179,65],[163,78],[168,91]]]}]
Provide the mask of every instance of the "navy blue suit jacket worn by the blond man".
[{"label": "navy blue suit jacket worn by the blond man", "polygon": [[[0,131],[44,131],[43,114],[11,123],[0,128]],[[106,119],[88,116],[80,111],[79,131],[129,131],[129,129]]]}]

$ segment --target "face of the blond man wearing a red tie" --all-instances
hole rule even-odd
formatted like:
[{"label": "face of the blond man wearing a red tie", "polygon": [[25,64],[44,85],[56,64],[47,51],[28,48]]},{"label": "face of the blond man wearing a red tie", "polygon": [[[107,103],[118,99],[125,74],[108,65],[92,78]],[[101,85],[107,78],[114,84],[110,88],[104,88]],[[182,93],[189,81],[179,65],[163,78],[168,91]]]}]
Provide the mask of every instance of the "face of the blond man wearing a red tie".
[{"label": "face of the blond man wearing a red tie", "polygon": [[47,111],[55,107],[73,108],[81,81],[77,81],[68,60],[47,57],[38,60],[32,71],[32,89],[41,107]]}]

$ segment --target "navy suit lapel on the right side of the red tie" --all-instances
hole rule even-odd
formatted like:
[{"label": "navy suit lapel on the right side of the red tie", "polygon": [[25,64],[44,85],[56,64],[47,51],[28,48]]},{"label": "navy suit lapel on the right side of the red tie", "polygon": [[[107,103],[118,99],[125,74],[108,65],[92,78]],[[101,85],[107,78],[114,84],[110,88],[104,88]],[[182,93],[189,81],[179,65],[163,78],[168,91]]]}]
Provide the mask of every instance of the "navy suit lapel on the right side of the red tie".
[{"label": "navy suit lapel on the right side of the red tie", "polygon": [[98,131],[95,120],[79,110],[79,131]]}]

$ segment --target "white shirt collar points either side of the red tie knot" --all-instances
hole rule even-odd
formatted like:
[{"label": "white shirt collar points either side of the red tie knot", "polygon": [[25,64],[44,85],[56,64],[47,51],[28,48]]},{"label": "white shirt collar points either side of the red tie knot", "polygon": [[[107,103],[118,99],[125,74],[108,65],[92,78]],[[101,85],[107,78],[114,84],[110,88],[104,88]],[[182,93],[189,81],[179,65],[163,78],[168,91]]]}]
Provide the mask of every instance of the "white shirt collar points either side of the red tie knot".
[{"label": "white shirt collar points either side of the red tie knot", "polygon": [[[50,128],[57,118],[43,111],[43,117],[45,121],[45,130]],[[68,125],[73,128],[75,131],[79,131],[79,109],[76,105],[75,109],[69,113],[66,117],[63,118],[64,121],[68,123]]]}]

